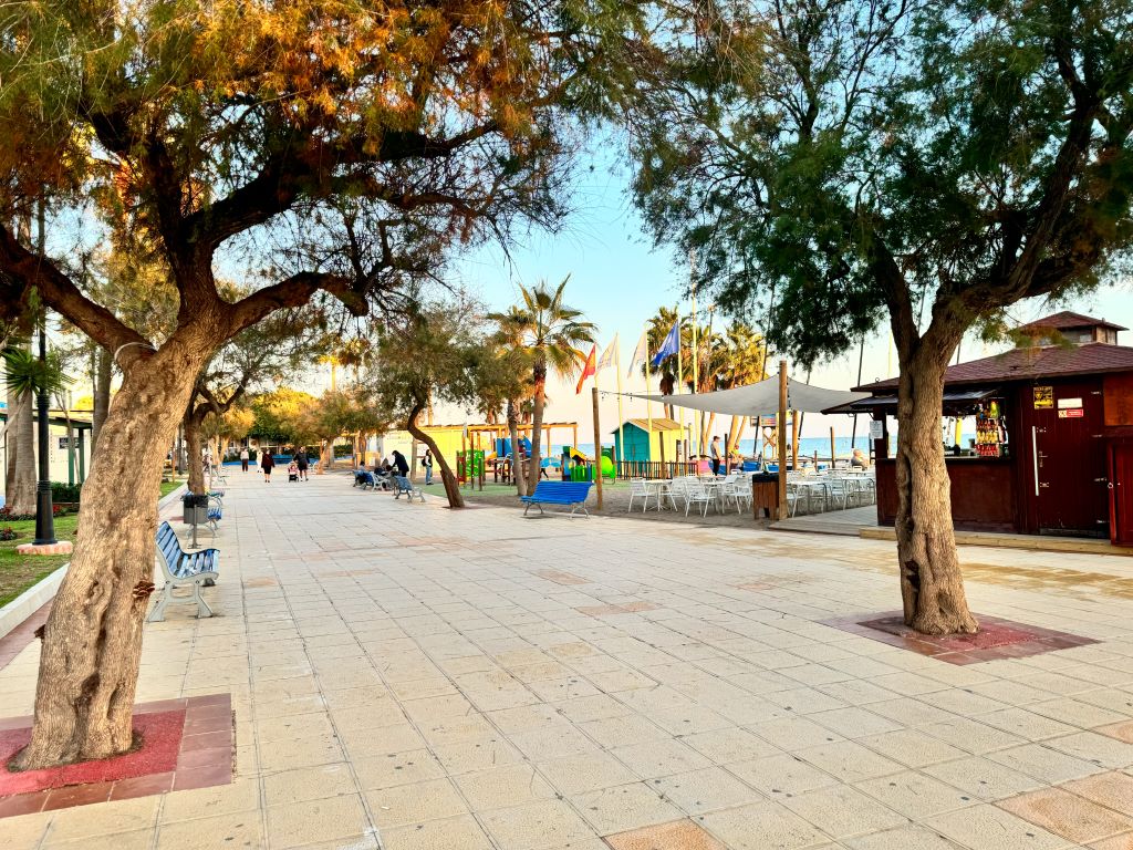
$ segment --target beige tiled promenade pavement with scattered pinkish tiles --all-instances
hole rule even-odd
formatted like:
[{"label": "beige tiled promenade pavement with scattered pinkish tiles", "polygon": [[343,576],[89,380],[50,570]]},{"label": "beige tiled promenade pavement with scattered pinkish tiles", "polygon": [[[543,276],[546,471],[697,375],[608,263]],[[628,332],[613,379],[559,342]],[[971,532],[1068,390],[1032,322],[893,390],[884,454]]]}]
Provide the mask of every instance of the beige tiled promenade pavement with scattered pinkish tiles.
[{"label": "beige tiled promenade pavement with scattered pinkish tiles", "polygon": [[148,626],[138,700],[230,691],[235,781],[0,847],[1133,849],[1130,559],[964,551],[974,610],[1100,643],[957,666],[824,624],[892,611],[891,543],[228,490],[223,615]]}]

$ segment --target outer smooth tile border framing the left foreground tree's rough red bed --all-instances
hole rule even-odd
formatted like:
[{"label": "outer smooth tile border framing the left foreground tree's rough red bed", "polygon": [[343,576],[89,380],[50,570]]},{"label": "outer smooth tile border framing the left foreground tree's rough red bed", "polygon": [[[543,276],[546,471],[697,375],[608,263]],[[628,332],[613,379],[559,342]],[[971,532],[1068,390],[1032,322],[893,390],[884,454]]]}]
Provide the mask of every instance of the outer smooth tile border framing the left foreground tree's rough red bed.
[{"label": "outer smooth tile border framing the left foreground tree's rough red bed", "polygon": [[[170,713],[184,715],[180,747],[172,770],[116,781],[44,788],[0,797],[0,818],[108,800],[128,800],[165,791],[229,784],[232,781],[235,743],[232,695],[211,694],[204,697],[164,699],[159,703],[144,703],[134,708],[135,716]],[[0,729],[25,729],[31,722],[31,717],[3,719],[0,720]]]}]

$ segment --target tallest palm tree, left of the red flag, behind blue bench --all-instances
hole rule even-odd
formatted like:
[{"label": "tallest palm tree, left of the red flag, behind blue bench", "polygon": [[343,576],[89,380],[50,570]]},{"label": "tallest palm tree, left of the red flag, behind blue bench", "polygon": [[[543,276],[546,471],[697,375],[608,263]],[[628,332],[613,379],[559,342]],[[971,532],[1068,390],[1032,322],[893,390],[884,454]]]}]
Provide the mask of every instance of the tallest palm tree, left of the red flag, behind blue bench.
[{"label": "tallest palm tree, left of the red flag, behind blue bench", "polygon": [[586,358],[580,346],[593,343],[597,328],[582,320],[582,312],[563,303],[563,290],[570,275],[554,289],[545,281],[531,288],[520,287],[522,304],[506,313],[492,314],[501,332],[511,334],[516,348],[526,349],[531,364],[531,461],[528,487],[539,483],[543,410],[547,400],[547,375],[570,379],[578,374]]}]

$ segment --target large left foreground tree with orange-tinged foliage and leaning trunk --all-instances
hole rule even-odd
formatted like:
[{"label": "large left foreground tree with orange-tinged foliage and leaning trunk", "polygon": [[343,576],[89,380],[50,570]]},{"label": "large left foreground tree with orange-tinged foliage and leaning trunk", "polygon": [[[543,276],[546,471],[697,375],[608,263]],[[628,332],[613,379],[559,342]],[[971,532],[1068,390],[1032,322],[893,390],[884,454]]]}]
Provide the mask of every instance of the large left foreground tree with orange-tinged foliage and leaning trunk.
[{"label": "large left foreground tree with orange-tinged foliage and leaning trunk", "polygon": [[[131,746],[162,461],[213,352],[312,300],[364,314],[454,239],[553,226],[571,114],[615,91],[638,15],[587,0],[3,7],[0,320],[36,290],[121,371],[16,767]],[[42,248],[11,226],[41,201]],[[68,265],[76,241],[104,237],[107,207],[168,266],[161,340]],[[216,269],[241,260],[259,283],[225,298]]]}]

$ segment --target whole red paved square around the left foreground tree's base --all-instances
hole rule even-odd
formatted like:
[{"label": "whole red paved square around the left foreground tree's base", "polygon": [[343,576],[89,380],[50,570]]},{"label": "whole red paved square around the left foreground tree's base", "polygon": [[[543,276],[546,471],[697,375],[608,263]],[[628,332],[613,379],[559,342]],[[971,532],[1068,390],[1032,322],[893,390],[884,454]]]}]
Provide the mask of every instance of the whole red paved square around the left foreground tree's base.
[{"label": "whole red paved square around the left foreground tree's base", "polygon": [[[0,720],[0,765],[27,742],[31,725],[31,717]],[[0,767],[0,817],[232,781],[230,694],[138,705],[134,729],[142,746],[114,758],[23,773]]]}]

